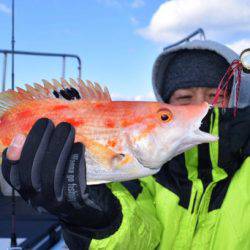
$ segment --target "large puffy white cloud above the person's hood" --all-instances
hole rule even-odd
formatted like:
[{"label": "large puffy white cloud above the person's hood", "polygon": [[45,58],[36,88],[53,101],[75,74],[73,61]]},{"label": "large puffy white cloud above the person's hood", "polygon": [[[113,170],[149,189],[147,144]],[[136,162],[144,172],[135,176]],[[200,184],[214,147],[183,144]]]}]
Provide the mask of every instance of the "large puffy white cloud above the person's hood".
[{"label": "large puffy white cloud above the person's hood", "polygon": [[249,0],[172,0],[161,4],[149,25],[137,32],[158,43],[172,43],[197,28],[207,37],[235,41],[249,34]]}]

